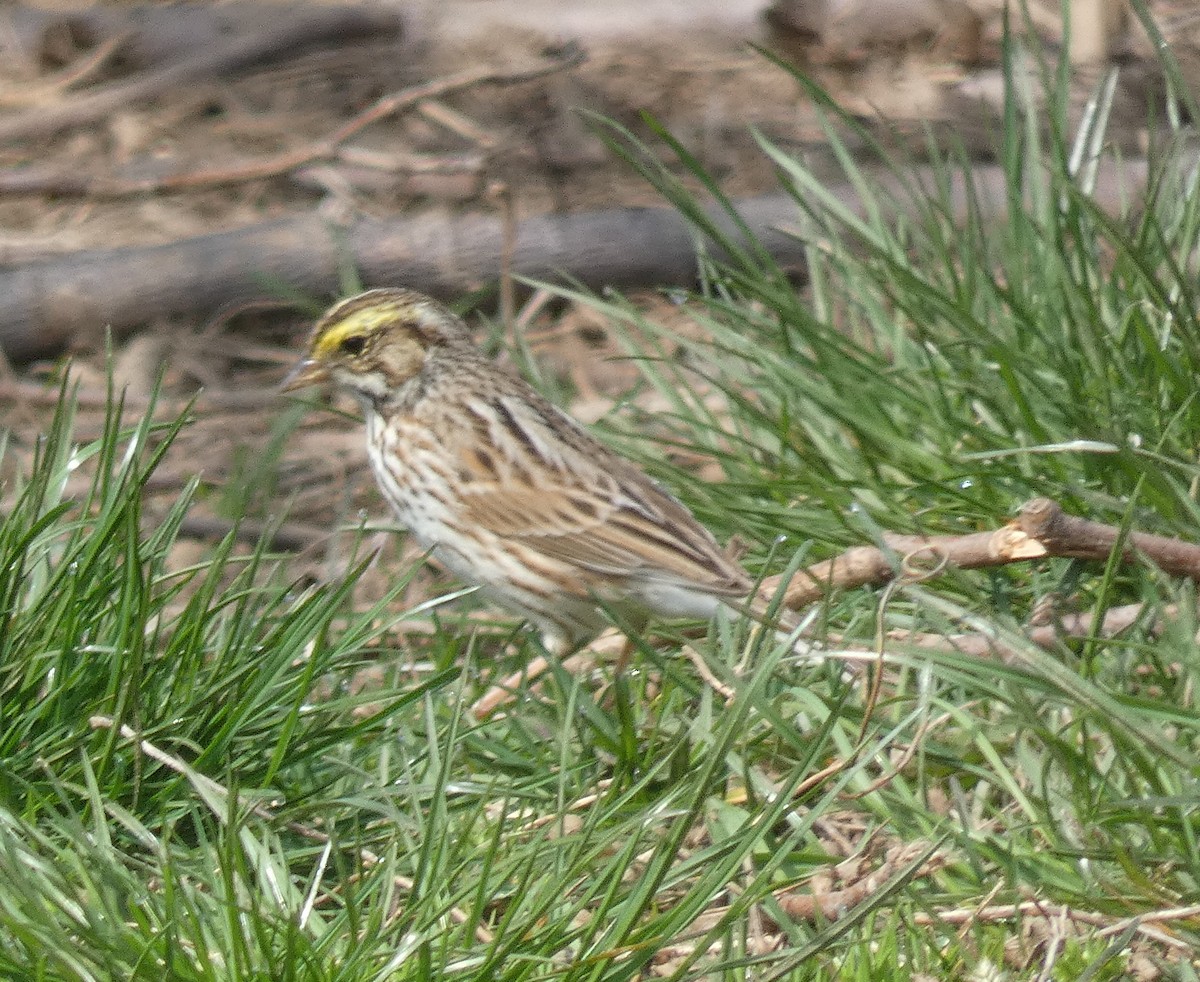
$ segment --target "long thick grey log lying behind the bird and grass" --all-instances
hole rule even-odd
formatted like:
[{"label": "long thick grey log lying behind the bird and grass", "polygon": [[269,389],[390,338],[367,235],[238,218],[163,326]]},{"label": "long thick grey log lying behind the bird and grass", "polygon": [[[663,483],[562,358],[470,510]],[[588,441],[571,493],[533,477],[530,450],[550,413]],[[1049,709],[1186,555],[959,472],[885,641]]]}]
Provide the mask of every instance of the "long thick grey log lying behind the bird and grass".
[{"label": "long thick grey log lying behind the bird and grass", "polygon": [[[1094,198],[1116,209],[1144,186],[1145,162],[1102,168]],[[936,180],[930,170],[883,175],[898,200],[911,188]],[[967,202],[1004,206],[1004,175],[979,167],[970,187],[959,174],[950,181],[955,214]],[[851,185],[832,188],[847,206],[863,205]],[[809,244],[788,194],[766,194],[734,203],[739,221],[775,261],[797,275]],[[898,208],[905,205],[899,204]],[[721,208],[709,217],[734,241],[739,223]],[[0,349],[13,361],[55,355],[76,335],[103,327],[120,336],[152,321],[209,317],[230,304],[263,299],[277,285],[310,295],[332,294],[341,273],[353,267],[364,286],[403,285],[434,297],[454,297],[497,276],[505,255],[502,217],[443,214],[382,221],[361,218],[331,228],[317,215],[184,239],[167,245],[96,250],[0,271]],[[712,252],[719,255],[715,249]],[[696,232],[674,209],[618,208],[538,215],[516,227],[511,271],[518,276],[568,276],[587,287],[691,285],[696,279]]]}]

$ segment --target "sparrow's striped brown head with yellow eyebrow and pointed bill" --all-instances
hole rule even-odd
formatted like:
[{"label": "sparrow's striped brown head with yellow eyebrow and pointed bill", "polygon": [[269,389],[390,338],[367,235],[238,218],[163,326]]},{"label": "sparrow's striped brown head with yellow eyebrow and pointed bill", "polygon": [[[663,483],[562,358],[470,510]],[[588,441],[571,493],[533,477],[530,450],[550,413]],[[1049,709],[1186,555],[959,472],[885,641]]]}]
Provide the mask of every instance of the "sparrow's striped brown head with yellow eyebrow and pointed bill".
[{"label": "sparrow's striped brown head with yellow eyebrow and pointed bill", "polygon": [[463,347],[470,348],[467,327],[436,300],[408,289],[372,289],[324,313],[283,389],[332,381],[377,402],[402,391],[431,354]]}]

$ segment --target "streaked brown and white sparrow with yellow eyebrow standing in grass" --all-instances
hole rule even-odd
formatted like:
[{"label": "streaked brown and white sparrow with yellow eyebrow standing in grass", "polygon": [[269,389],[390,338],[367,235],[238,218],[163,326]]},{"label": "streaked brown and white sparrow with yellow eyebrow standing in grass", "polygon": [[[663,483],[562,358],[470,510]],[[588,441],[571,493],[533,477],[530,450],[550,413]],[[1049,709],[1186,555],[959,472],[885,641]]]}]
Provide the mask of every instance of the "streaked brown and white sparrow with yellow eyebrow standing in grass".
[{"label": "streaked brown and white sparrow with yellow eyebrow standing in grass", "polygon": [[637,467],[472,343],[407,289],[331,307],[284,382],[332,381],[362,406],[376,480],[413,538],[564,654],[601,606],[646,617],[742,609],[746,574]]}]

